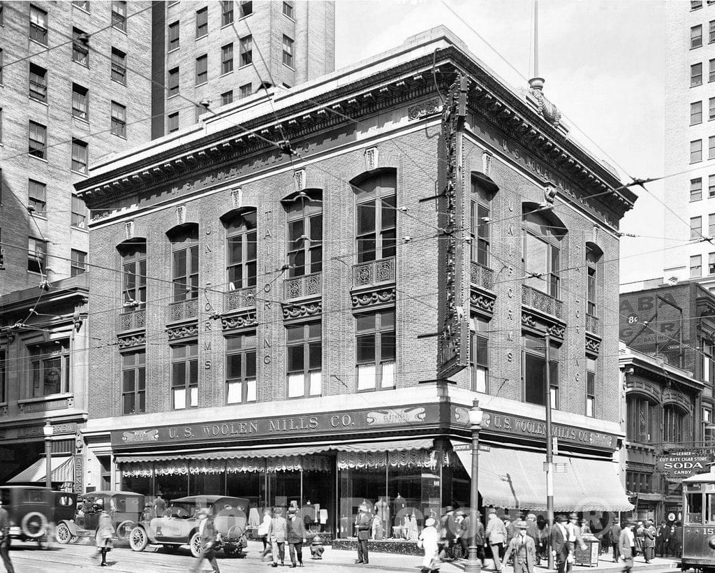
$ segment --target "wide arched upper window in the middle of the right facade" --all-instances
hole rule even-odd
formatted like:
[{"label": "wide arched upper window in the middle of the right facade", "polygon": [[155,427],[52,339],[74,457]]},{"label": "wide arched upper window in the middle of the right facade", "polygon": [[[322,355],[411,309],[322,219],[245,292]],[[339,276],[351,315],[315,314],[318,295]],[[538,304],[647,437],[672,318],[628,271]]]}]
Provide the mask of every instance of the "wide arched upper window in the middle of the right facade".
[{"label": "wide arched upper window in the middle of the right facade", "polygon": [[561,290],[561,239],[566,227],[555,215],[533,212],[538,205],[524,203],[524,274],[531,275],[526,285],[553,298]]}]

